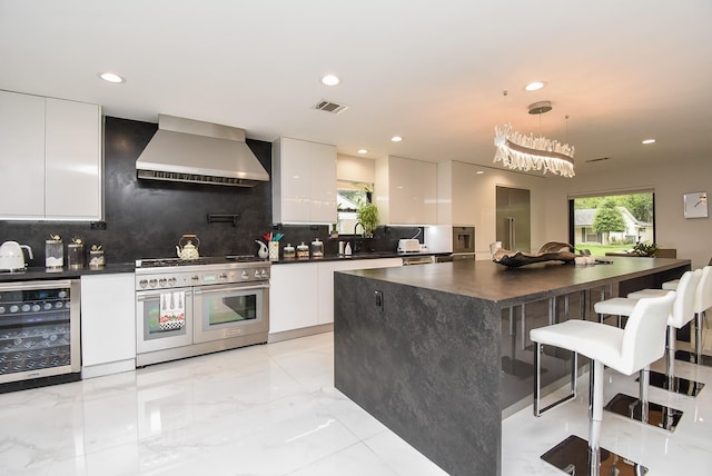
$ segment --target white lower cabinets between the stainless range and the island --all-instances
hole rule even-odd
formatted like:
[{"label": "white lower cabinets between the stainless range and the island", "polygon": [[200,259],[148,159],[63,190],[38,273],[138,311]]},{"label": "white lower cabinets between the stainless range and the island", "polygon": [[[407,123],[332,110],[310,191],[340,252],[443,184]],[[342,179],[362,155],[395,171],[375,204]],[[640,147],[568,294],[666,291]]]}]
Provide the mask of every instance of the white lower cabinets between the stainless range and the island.
[{"label": "white lower cabinets between the stainless range and the island", "polygon": [[[269,280],[270,341],[305,336],[312,334],[309,327],[334,323],[334,271],[402,265],[400,258],[384,258],[273,266]],[[318,328],[314,330],[319,331]],[[276,337],[287,331],[294,331],[294,335]]]}]

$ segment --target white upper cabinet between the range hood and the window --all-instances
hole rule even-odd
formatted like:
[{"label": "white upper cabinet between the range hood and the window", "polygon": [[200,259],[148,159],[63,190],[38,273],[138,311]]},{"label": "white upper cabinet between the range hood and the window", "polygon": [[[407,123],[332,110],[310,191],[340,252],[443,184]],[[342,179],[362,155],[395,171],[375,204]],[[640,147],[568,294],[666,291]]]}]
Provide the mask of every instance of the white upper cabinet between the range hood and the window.
[{"label": "white upper cabinet between the range hood and the window", "polygon": [[273,221],[336,221],[336,147],[280,138],[273,143]]}]

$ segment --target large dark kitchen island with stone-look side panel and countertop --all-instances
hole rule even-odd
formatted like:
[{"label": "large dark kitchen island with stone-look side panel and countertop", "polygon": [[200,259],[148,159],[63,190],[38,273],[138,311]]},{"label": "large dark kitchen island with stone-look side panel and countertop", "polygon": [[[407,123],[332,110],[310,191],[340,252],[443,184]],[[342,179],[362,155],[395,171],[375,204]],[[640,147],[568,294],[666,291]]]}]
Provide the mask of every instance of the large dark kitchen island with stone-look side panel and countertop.
[{"label": "large dark kitchen island with stone-look side panel and countertop", "polygon": [[532,388],[510,385],[503,369],[510,309],[547,303],[548,319],[558,320],[556,304],[573,296],[581,310],[570,318],[587,318],[587,299],[600,295],[592,289],[625,295],[688,269],[690,260],[615,258],[336,272],[335,386],[447,473],[500,475],[503,410]]}]

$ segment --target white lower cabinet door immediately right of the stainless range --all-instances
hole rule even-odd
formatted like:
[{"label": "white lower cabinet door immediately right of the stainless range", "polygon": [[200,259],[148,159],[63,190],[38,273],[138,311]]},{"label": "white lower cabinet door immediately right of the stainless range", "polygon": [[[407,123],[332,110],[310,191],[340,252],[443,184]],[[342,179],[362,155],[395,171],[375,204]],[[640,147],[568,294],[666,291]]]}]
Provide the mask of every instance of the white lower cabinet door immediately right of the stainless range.
[{"label": "white lower cabinet door immediately right of the stainless range", "polygon": [[317,265],[273,266],[269,277],[269,333],[316,326]]}]

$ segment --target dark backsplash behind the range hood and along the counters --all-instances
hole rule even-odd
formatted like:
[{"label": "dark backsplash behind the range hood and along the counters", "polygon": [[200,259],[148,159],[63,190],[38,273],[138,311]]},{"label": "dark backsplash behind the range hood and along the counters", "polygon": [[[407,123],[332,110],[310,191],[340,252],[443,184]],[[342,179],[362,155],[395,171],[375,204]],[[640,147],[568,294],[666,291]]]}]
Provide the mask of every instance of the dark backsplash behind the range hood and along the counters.
[{"label": "dark backsplash behind the range hood and along the counters", "polygon": [[[172,257],[184,234],[198,236],[201,256],[256,255],[255,239],[273,229],[271,184],[241,188],[138,180],[136,159],[157,128],[150,122],[106,118],[106,229],[91,229],[89,222],[0,221],[0,242],[29,245],[34,254],[29,266],[33,267],[44,266],[44,240],[50,234],[60,235],[65,246],[72,237],[80,237],[87,249],[101,245],[107,262]],[[247,139],[247,145],[271,173],[271,143]],[[238,215],[237,226],[208,222],[208,215]],[[359,240],[359,245],[364,250],[390,251],[399,238],[412,238],[417,231],[417,227],[379,227],[374,238]],[[309,244],[318,237],[326,254],[335,255],[338,248],[338,240],[328,239],[327,226],[284,225],[280,232],[285,234],[283,246]],[[422,234],[419,239],[423,241]]]}]

